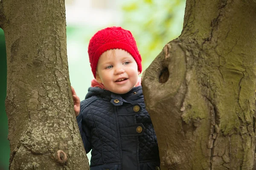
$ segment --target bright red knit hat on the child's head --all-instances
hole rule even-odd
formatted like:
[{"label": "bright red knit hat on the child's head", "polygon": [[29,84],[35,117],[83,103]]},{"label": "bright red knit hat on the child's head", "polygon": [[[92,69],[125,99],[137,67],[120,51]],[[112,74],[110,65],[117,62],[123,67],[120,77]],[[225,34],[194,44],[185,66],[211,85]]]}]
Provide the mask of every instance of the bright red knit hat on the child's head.
[{"label": "bright red knit hat on the child's head", "polygon": [[88,54],[94,77],[96,77],[99,57],[110,49],[123,49],[130,53],[137,62],[138,70],[141,73],[141,57],[131,32],[121,27],[108,27],[96,32],[89,42]]}]

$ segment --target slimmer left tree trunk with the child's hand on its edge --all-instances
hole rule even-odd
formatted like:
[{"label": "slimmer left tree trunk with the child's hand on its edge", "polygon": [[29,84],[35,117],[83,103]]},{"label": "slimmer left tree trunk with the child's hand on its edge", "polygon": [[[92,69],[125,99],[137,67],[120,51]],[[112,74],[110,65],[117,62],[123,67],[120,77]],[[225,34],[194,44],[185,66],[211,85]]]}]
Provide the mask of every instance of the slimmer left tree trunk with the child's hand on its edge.
[{"label": "slimmer left tree trunk with the child's hand on its edge", "polygon": [[11,170],[85,170],[73,110],[64,0],[1,0]]}]

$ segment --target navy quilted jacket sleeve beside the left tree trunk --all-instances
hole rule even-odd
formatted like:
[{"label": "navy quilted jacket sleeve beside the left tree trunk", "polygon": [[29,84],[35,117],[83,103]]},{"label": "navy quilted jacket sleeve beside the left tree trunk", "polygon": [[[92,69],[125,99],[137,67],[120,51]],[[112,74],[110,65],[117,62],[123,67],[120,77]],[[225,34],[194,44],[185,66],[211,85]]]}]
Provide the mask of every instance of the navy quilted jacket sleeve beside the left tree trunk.
[{"label": "navy quilted jacket sleeve beside the left tree trunk", "polygon": [[87,114],[90,114],[90,110],[88,107],[86,107],[86,105],[84,105],[83,102],[81,102],[80,113],[76,117],[76,120],[86,153],[90,152],[91,150],[91,133],[90,127],[88,126]]}]

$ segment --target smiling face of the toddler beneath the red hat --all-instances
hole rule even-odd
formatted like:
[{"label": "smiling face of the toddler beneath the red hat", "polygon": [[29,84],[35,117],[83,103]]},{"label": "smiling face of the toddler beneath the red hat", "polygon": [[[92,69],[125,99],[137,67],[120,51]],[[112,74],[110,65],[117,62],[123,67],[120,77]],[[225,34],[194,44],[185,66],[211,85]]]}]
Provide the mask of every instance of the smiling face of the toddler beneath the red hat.
[{"label": "smiling face of the toddler beneath the red hat", "polygon": [[125,94],[138,81],[138,66],[134,58],[122,49],[111,49],[102,53],[96,71],[96,80],[116,94]]}]

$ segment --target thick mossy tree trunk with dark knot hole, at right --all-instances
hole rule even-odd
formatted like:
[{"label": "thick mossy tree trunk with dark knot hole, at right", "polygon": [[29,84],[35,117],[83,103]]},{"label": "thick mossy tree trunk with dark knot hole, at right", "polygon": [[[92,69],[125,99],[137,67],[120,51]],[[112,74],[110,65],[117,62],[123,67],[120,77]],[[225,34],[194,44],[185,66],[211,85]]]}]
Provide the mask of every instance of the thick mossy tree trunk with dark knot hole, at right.
[{"label": "thick mossy tree trunk with dark knot hole, at right", "polygon": [[187,0],[143,74],[162,170],[253,169],[255,61],[255,0]]}]

